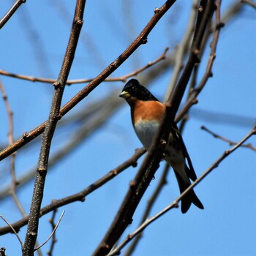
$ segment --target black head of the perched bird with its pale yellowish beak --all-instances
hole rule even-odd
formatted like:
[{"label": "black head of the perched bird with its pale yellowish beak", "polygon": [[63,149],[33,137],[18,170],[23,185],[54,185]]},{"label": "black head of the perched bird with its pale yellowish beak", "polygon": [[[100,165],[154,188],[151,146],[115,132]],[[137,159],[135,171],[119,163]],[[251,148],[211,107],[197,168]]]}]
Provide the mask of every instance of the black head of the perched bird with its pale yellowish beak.
[{"label": "black head of the perched bird with its pale yellowish beak", "polygon": [[158,99],[154,97],[154,95],[151,94],[151,92],[148,91],[148,89],[146,89],[144,86],[142,86],[139,83],[139,81],[136,79],[131,79],[126,83],[119,97],[122,97],[127,100],[132,98],[132,99],[140,99],[143,101],[148,101],[148,100],[158,101]]}]

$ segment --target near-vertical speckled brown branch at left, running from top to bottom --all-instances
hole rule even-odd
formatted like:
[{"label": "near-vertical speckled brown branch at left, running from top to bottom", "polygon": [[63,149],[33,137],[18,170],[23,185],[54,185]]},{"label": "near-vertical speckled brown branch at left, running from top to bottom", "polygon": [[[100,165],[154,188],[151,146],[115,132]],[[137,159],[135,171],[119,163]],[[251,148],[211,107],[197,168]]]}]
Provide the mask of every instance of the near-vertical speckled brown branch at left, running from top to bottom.
[{"label": "near-vertical speckled brown branch at left, running from top to bottom", "polygon": [[69,70],[72,66],[72,61],[75,56],[75,50],[78,45],[78,38],[80,30],[83,25],[83,10],[85,4],[86,0],[77,0],[75,7],[75,15],[72,23],[72,31],[69,37],[69,42],[64,56],[64,61],[59,73],[59,78],[56,81],[56,83],[53,84],[53,100],[45,131],[42,135],[42,145],[39,155],[36,178],[34,182],[34,192],[29,213],[28,228],[25,243],[23,245],[23,255],[34,255],[34,245],[37,239],[37,231],[39,225],[39,214],[42,203],[43,191],[45,187],[45,178],[48,170],[50,143],[53,138],[53,133],[55,131],[56,124],[59,118],[61,118],[61,99],[69,75]]}]

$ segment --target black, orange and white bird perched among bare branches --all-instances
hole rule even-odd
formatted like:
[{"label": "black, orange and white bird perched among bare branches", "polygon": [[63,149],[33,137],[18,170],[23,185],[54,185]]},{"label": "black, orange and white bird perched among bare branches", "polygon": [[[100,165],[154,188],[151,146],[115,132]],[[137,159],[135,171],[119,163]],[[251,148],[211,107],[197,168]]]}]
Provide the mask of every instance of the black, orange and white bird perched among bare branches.
[{"label": "black, orange and white bird perched among bare branches", "polygon": [[[148,151],[165,114],[165,105],[159,102],[136,79],[131,79],[125,84],[119,97],[126,99],[128,102],[135,133]],[[192,181],[197,179],[192,161],[175,121],[171,124],[163,159],[173,168],[181,193],[191,185],[190,179]],[[181,199],[181,212],[185,214],[192,203],[203,209],[203,204],[193,189]]]}]

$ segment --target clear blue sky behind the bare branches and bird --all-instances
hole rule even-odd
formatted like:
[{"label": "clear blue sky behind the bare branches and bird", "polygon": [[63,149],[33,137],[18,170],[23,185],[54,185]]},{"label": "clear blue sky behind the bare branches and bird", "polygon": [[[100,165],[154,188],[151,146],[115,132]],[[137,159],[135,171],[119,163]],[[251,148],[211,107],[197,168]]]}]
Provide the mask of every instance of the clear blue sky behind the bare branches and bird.
[{"label": "clear blue sky behind the bare branches and bird", "polygon": [[[222,14],[234,1],[223,1]],[[69,79],[93,78],[132,42],[154,13],[154,8],[164,1],[127,1],[127,9],[121,1],[87,1],[83,31]],[[1,17],[12,1],[1,1]],[[60,9],[64,4],[65,9]],[[173,48],[182,38],[186,29],[190,1],[177,1],[132,58],[128,59],[113,77],[125,75],[138,67],[156,59],[169,46]],[[64,51],[67,46],[75,1],[27,1],[0,31],[1,67],[18,74],[35,77],[57,78]],[[134,29],[127,29],[127,16],[131,13]],[[200,176],[230,146],[208,135],[200,129],[205,125],[230,140],[239,141],[252,129],[255,121],[255,43],[256,12],[244,6],[244,11],[222,29],[214,63],[214,77],[210,78],[206,89],[198,97],[198,104],[192,108],[184,130],[184,141]],[[33,36],[31,36],[33,34]],[[97,53],[96,57],[94,53]],[[199,78],[202,77],[208,60],[209,48],[202,60]],[[162,99],[170,80],[172,69],[151,84],[150,90]],[[139,77],[138,77],[139,78]],[[48,117],[53,86],[31,83],[1,76],[10,105],[15,113],[15,138],[28,132]],[[64,92],[63,105],[85,84],[68,86]],[[102,83],[89,97],[80,102],[67,118],[79,110],[104,98],[113,89],[122,89],[123,83]],[[122,101],[123,99],[120,99]],[[4,102],[0,101],[1,126],[0,143],[7,143],[7,114]],[[201,110],[208,111],[207,117],[199,118]],[[213,120],[218,113],[219,121]],[[238,116],[238,124],[228,124],[226,115]],[[244,122],[246,117],[248,122]],[[79,124],[78,124],[79,125]],[[77,129],[73,125],[70,129]],[[53,138],[51,153],[69,141],[69,129],[57,129]],[[256,139],[250,143],[256,145]],[[16,159],[17,176],[23,176],[37,165],[40,143],[18,151]],[[97,129],[90,138],[83,141],[72,154],[61,159],[48,173],[42,206],[54,198],[59,199],[87,187],[97,178],[128,159],[135,148],[140,147],[129,116],[129,106],[120,110]],[[140,159],[139,162],[141,162]],[[1,187],[10,184],[7,175],[10,159],[0,163]],[[139,167],[139,165],[138,165]],[[54,255],[65,255],[67,244],[73,255],[91,255],[105,235],[113,217],[127,192],[129,181],[134,178],[136,168],[129,168],[104,187],[86,197],[85,203],[73,203],[59,209],[57,216],[65,209],[64,217],[56,236],[58,242]],[[151,181],[128,234],[136,229],[146,201],[151,196],[159,180],[162,168]],[[178,196],[178,186],[173,171],[167,177],[168,184],[163,189],[151,216],[161,211]],[[187,214],[173,209],[149,226],[134,255],[255,255],[255,151],[239,148],[227,157],[195,191],[205,206],[200,211],[192,206]],[[33,183],[18,191],[18,197],[27,212],[31,203]],[[20,219],[11,198],[1,201],[0,214],[9,222]],[[39,243],[48,238],[51,230],[48,219],[51,214],[40,219]],[[3,222],[0,222],[4,226]],[[19,233],[24,240],[26,227]],[[20,245],[13,235],[1,236],[0,246],[7,248],[7,255],[20,255]],[[44,255],[49,244],[42,248]],[[125,251],[125,250],[124,250]],[[122,251],[121,255],[124,253]]]}]

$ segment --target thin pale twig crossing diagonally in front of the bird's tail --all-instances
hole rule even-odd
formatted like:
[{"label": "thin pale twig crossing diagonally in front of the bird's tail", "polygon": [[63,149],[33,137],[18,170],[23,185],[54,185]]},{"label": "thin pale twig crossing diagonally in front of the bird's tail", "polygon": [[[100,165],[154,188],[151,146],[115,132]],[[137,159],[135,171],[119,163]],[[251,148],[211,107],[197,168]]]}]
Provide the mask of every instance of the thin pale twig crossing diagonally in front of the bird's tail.
[{"label": "thin pale twig crossing diagonally in front of the bird's tail", "polygon": [[206,178],[206,176],[208,176],[209,173],[211,173],[212,170],[214,170],[216,167],[219,166],[219,164],[230,154],[233,153],[233,151],[235,151],[237,148],[239,148],[241,145],[243,145],[243,143],[248,140],[250,137],[252,137],[252,135],[256,134],[256,125],[255,127],[239,142],[236,144],[236,146],[234,146],[233,148],[231,148],[230,150],[226,150],[221,157],[219,157],[219,159],[217,159],[216,162],[214,162],[211,167],[208,168],[208,170],[206,170],[199,178],[197,178],[197,180],[192,183],[183,193],[181,193],[180,196],[178,196],[176,198],[176,200],[173,201],[173,203],[171,203],[169,206],[165,207],[162,211],[160,211],[158,214],[154,215],[154,217],[148,218],[146,219],[146,221],[143,223],[143,225],[140,225],[140,227],[138,227],[137,230],[135,230],[135,232],[133,232],[132,234],[129,234],[127,236],[127,238],[124,239],[124,241],[121,242],[121,244],[116,247],[116,249],[113,250],[113,252],[111,252],[110,254],[108,254],[108,256],[113,256],[113,255],[118,255],[120,253],[120,250],[129,243],[129,241],[132,240],[132,238],[134,238],[135,236],[138,236],[139,233],[141,233],[143,230],[145,230],[146,227],[148,227],[148,225],[150,225],[152,222],[154,222],[155,220],[159,219],[159,217],[162,217],[163,214],[166,214],[167,211],[170,211],[170,209],[172,208],[177,208],[178,207],[178,203],[181,201],[181,199],[187,195],[187,193],[189,191],[191,191],[195,186],[197,186],[197,184],[200,183],[200,181],[203,181],[204,178]]}]

